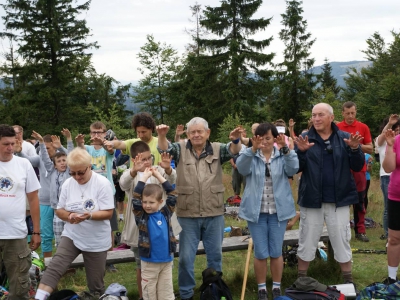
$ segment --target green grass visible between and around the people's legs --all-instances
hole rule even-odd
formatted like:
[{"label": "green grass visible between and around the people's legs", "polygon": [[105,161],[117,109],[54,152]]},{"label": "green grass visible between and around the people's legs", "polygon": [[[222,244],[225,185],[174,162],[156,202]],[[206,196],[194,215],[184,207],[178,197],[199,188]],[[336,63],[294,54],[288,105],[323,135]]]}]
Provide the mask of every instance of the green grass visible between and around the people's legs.
[{"label": "green grass visible between and around the people's legs", "polygon": [[[230,175],[224,174],[224,185],[226,187],[225,198],[232,195],[232,188],[230,183]],[[297,185],[292,184],[295,198],[297,198]],[[379,179],[374,178],[371,180],[371,186],[369,190],[369,207],[368,217],[372,217],[377,223],[382,223],[382,193],[379,186]],[[239,227],[245,227],[245,221],[236,221],[230,217],[225,218],[226,226],[233,225]],[[297,228],[298,225],[296,225]],[[377,228],[367,229],[367,235],[370,238],[369,243],[359,242],[354,239],[354,232],[352,232],[353,238],[351,240],[351,246],[354,249],[363,250],[385,250],[386,241],[380,240],[379,237],[382,235],[383,229],[378,226]],[[233,298],[240,299],[243,273],[246,260],[247,251],[234,251],[226,252],[223,254],[223,278],[230,287]],[[254,277],[253,271],[253,260],[250,262],[250,270],[246,287],[245,299],[257,299],[257,284]],[[138,299],[138,291],[136,286],[135,276],[135,263],[126,263],[116,265],[118,268],[117,273],[107,273],[105,276],[106,286],[113,282],[118,282],[124,285],[128,289],[129,299]],[[196,292],[195,299],[199,299],[198,288],[201,285],[201,272],[206,268],[206,259],[204,255],[199,255],[196,258],[195,263],[195,276],[196,276]],[[177,283],[178,274],[178,259],[174,261],[174,290],[178,292]],[[321,260],[315,260],[309,269],[309,276],[318,279],[320,282],[325,284],[340,284],[342,278],[340,275],[340,269],[336,263],[329,264]],[[285,267],[282,288],[290,286],[297,277],[297,268]],[[373,254],[373,253],[355,253],[353,255],[353,277],[357,284],[358,289],[362,289],[368,284],[374,281],[382,281],[383,278],[387,277],[387,262],[385,254]],[[267,288],[271,290],[271,279],[267,277]],[[77,270],[74,275],[65,275],[59,283],[59,289],[70,288],[75,291],[82,291],[86,289],[86,279],[84,270]],[[270,299],[272,297],[270,296]]]}]

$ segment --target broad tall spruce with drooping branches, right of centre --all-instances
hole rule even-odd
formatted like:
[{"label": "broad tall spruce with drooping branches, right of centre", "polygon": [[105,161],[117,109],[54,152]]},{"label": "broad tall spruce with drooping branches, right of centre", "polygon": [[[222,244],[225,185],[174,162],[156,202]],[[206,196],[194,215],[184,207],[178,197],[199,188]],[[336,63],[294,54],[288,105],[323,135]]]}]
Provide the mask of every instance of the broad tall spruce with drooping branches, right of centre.
[{"label": "broad tall spruce with drooping branches, right of centre", "polygon": [[[252,18],[261,0],[224,0],[218,7],[207,6],[200,24],[216,35],[214,39],[199,39],[209,55],[200,55],[199,63],[218,68],[225,114],[242,112],[251,118],[254,106],[269,92],[271,72],[266,66],[274,54],[262,51],[271,38],[255,40],[252,36],[270,24],[271,19]],[[207,73],[207,72],[206,72]],[[212,106],[213,103],[203,103]]]}]

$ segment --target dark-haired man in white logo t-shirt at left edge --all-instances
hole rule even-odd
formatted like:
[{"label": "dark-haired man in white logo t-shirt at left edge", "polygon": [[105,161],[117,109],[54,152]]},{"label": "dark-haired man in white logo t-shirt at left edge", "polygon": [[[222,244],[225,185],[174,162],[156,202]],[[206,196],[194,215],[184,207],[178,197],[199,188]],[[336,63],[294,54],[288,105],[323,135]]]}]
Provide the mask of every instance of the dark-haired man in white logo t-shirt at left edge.
[{"label": "dark-haired man in white logo t-shirt at left edge", "polygon": [[[14,156],[15,130],[0,125],[0,262],[9,278],[9,300],[29,299],[31,250],[40,246],[39,181],[31,163]],[[25,202],[31,207],[33,233],[28,248]]]}]

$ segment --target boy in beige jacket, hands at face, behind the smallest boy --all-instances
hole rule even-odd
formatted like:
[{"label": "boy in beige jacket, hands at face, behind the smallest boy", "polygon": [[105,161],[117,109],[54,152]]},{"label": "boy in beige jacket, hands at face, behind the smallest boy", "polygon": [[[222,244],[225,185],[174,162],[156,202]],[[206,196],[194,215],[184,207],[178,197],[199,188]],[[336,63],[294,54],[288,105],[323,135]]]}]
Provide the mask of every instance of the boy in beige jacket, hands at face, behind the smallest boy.
[{"label": "boy in beige jacket, hands at face, behind the smallest boy", "polygon": [[[150,147],[143,141],[137,141],[130,147],[130,154],[132,157],[132,165],[130,169],[124,171],[119,179],[119,185],[123,191],[126,192],[127,198],[131,199],[133,191],[139,182],[141,174],[146,168],[153,165],[153,156],[151,154]],[[171,184],[176,182],[176,171],[171,168],[171,157],[168,154],[161,156],[160,165],[154,166],[158,169],[158,172]],[[147,183],[159,184],[159,181],[154,176],[151,176]],[[163,193],[163,199],[167,198],[166,193]],[[178,235],[181,231],[176,214],[172,217],[172,226],[174,234]],[[132,213],[132,202],[129,200],[126,207],[125,223],[121,234],[121,242],[131,247],[131,250],[135,253],[136,261],[136,283],[139,290],[139,297],[142,298],[142,278],[141,278],[141,261],[138,249],[138,236],[139,230],[136,226],[135,218]]]}]

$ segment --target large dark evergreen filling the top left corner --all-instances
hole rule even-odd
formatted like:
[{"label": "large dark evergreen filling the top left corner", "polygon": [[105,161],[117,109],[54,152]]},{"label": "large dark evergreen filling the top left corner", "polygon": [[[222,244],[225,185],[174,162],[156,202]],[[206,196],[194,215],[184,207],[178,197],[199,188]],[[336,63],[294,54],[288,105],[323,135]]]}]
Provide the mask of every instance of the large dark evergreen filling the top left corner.
[{"label": "large dark evergreen filling the top left corner", "polygon": [[[2,4],[6,33],[16,41],[16,50],[23,59],[21,65],[9,70],[24,84],[11,99],[19,109],[15,122],[29,127],[42,120],[60,127],[65,114],[80,110],[82,103],[76,103],[77,97],[71,97],[71,93],[77,74],[84,73],[88,65],[87,51],[96,48],[97,43],[86,42],[90,30],[86,21],[79,19],[89,9],[90,1],[75,2],[7,0]],[[15,86],[21,85],[16,82]]]}]

